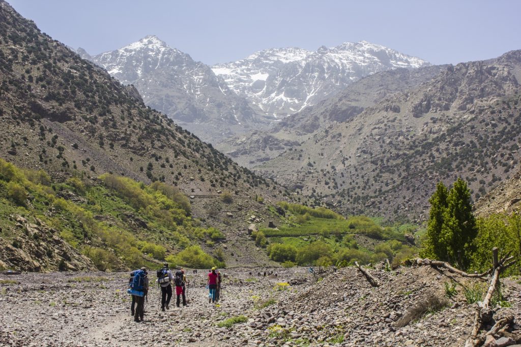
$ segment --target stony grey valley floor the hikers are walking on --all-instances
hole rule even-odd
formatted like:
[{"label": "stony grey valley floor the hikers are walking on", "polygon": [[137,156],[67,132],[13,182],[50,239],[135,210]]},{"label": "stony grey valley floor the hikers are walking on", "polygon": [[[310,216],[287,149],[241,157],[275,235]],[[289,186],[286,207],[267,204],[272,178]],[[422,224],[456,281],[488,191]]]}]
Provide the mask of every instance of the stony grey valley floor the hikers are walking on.
[{"label": "stony grey valley floor the hikers are walking on", "polygon": [[[277,277],[257,276],[264,271]],[[486,286],[430,266],[372,270],[382,283],[379,288],[371,287],[355,267],[316,278],[302,267],[235,268],[224,272],[222,300],[210,304],[206,272],[187,273],[189,305],[175,307],[174,295],[170,310],[161,312],[159,291],[152,286],[143,323],[130,316],[127,273],[0,275],[0,345],[463,346],[476,305],[466,302],[463,286]],[[150,274],[153,280],[155,272]],[[449,299],[445,282],[453,281],[457,293]],[[510,307],[498,306],[494,318],[513,314],[519,324],[520,283],[502,280]],[[433,297],[443,307],[399,327],[404,316]],[[240,315],[247,321],[217,326]]]}]

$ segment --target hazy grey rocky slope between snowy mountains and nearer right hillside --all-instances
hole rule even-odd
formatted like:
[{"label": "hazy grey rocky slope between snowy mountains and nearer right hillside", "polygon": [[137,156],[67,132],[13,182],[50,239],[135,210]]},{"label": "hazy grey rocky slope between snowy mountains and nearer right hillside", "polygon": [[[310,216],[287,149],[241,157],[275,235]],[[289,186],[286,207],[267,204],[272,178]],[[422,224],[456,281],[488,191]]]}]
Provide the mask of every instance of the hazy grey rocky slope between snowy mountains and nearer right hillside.
[{"label": "hazy grey rocky slope between snowy mountains and nearer right hillside", "polygon": [[440,73],[446,66],[394,69],[366,76],[326,100],[289,115],[267,130],[230,138],[220,148],[250,169],[275,158],[284,150],[299,146],[314,133],[334,123],[346,122],[376,105],[385,97],[417,87]]}]

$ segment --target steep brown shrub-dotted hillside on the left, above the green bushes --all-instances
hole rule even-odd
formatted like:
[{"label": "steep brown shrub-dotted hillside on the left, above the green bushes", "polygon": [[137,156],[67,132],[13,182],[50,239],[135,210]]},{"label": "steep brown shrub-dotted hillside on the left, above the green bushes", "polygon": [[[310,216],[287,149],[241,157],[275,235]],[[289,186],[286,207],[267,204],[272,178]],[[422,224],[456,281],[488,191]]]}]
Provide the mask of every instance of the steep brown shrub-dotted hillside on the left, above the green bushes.
[{"label": "steep brown shrub-dotted hillside on the left, above the green bushes", "polygon": [[[42,170],[58,183],[74,176],[96,184],[95,177],[109,172],[177,186],[191,201],[192,217],[230,232],[231,240],[241,237],[253,212],[266,226],[269,203],[289,196],[146,107],[135,88],[41,33],[4,1],[0,33],[0,157],[6,161]],[[230,195],[226,203],[221,192]],[[245,262],[265,260],[251,242],[232,243],[232,263],[242,255]]]}]

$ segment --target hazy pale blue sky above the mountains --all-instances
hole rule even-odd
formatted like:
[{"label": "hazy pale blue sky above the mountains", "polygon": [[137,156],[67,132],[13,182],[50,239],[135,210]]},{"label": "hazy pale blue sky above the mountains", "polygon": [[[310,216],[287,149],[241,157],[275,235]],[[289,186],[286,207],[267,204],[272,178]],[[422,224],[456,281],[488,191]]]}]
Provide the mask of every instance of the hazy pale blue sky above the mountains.
[{"label": "hazy pale blue sky above the mountains", "polygon": [[157,35],[207,64],[271,47],[361,40],[431,63],[521,49],[518,0],[7,0],[45,33],[91,55]]}]

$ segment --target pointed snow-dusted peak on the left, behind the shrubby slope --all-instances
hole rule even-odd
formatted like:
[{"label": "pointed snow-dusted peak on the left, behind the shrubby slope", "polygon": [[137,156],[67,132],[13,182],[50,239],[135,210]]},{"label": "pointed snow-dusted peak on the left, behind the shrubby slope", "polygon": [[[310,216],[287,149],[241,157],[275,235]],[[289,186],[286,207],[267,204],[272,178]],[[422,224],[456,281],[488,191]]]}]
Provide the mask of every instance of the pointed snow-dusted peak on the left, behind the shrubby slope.
[{"label": "pointed snow-dusted peak on the left, behind the shrubby slope", "polygon": [[[79,54],[88,58],[84,50]],[[162,111],[205,141],[267,124],[252,107],[218,78],[209,66],[146,36],[123,48],[91,58],[123,84],[133,84],[147,106]]]}]

